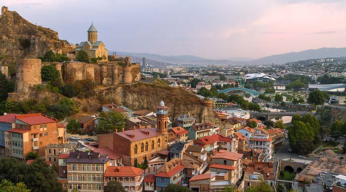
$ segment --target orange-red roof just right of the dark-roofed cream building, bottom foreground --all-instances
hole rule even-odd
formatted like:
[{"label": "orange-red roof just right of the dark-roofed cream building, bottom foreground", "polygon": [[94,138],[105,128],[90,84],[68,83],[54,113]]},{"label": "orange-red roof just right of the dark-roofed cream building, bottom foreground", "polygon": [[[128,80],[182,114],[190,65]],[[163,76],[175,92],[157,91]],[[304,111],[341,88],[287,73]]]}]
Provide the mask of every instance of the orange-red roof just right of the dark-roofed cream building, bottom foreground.
[{"label": "orange-red roof just right of the dark-roofed cream building, bottom foreground", "polygon": [[143,169],[130,166],[110,166],[104,173],[104,177],[135,177],[140,176],[144,172]]}]

